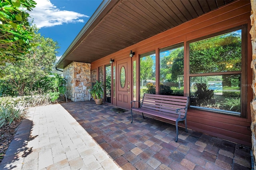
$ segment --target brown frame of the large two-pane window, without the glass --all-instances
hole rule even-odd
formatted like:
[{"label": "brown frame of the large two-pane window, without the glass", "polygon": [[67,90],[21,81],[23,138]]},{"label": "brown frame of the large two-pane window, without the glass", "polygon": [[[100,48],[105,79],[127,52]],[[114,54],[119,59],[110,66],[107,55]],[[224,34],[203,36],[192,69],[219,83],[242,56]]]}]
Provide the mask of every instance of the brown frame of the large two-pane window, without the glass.
[{"label": "brown frame of the large two-pane window, without the glass", "polygon": [[[247,59],[247,34],[248,34],[248,30],[247,30],[247,24],[244,24],[244,25],[241,25],[241,26],[238,26],[238,27],[234,27],[234,28],[231,28],[231,29],[228,29],[228,30],[224,30],[224,31],[220,31],[220,32],[216,32],[214,34],[210,34],[210,35],[207,35],[207,36],[204,36],[204,37],[200,37],[200,38],[197,38],[197,39],[194,39],[194,40],[190,40],[190,41],[187,41],[186,42],[186,50],[187,50],[187,75],[188,75],[188,78],[186,79],[188,82],[190,82],[190,77],[198,77],[198,76],[212,76],[212,75],[230,75],[230,74],[240,74],[241,75],[241,85],[240,85],[240,106],[241,106],[241,113],[240,115],[232,115],[228,112],[225,112],[225,111],[222,111],[222,110],[210,110],[208,108],[204,108],[204,107],[201,107],[201,108],[194,108],[194,107],[190,107],[190,109],[198,109],[198,110],[203,110],[203,111],[209,111],[209,112],[214,112],[214,113],[220,113],[220,114],[226,114],[226,115],[230,115],[230,116],[238,116],[238,117],[243,117],[245,118],[246,115],[247,115],[247,86],[246,86],[246,82],[247,82],[247,63],[246,63],[246,59]],[[191,74],[190,73],[190,43],[193,43],[193,42],[197,42],[197,41],[200,41],[200,40],[205,40],[207,38],[212,38],[214,36],[219,36],[219,35],[222,35],[222,34],[226,34],[226,33],[229,33],[229,32],[233,32],[233,31],[236,31],[236,30],[241,30],[241,33],[242,33],[242,43],[241,43],[241,47],[242,47],[242,50],[241,50],[241,71],[225,71],[225,72],[212,72],[212,73],[193,73]],[[188,89],[188,94],[190,96],[190,83],[187,83],[187,89]],[[189,103],[189,106],[190,106],[190,103]]]}]

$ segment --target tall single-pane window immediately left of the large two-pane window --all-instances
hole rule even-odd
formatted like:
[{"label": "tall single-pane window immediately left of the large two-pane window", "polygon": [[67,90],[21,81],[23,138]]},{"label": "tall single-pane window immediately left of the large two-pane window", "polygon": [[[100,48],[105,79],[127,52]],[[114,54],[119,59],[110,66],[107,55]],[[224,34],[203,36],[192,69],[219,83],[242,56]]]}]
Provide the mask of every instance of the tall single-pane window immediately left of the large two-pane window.
[{"label": "tall single-pane window immediately left of the large two-pane window", "polygon": [[160,95],[184,94],[184,43],[160,49]]}]

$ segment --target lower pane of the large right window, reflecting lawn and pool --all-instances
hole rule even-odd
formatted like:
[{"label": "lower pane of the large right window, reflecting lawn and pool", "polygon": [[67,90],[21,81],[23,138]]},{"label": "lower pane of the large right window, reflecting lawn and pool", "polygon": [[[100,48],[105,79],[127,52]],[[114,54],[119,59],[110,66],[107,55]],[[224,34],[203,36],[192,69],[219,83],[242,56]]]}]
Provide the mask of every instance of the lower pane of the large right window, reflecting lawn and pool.
[{"label": "lower pane of the large right window, reflecting lawn and pool", "polygon": [[241,75],[190,77],[190,107],[240,114]]}]

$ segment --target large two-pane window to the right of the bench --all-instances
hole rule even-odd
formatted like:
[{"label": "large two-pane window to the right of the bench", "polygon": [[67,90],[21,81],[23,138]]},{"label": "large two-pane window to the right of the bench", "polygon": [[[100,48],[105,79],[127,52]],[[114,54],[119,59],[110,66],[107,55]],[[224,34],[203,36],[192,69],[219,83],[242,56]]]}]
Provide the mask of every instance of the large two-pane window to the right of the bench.
[{"label": "large two-pane window to the right of the bench", "polygon": [[189,43],[190,107],[233,115],[245,111],[244,30],[242,26]]}]

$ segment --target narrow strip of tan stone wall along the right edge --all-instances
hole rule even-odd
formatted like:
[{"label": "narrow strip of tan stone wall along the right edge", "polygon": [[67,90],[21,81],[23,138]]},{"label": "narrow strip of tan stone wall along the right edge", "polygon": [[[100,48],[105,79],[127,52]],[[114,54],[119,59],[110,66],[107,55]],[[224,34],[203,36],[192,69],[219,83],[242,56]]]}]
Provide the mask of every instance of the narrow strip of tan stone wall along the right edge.
[{"label": "narrow strip of tan stone wall along the right edge", "polygon": [[252,12],[251,12],[251,25],[250,34],[252,36],[252,89],[253,100],[251,102],[251,117],[252,117],[252,152],[254,157],[254,170],[256,170],[255,157],[256,157],[256,0],[251,0]]}]

